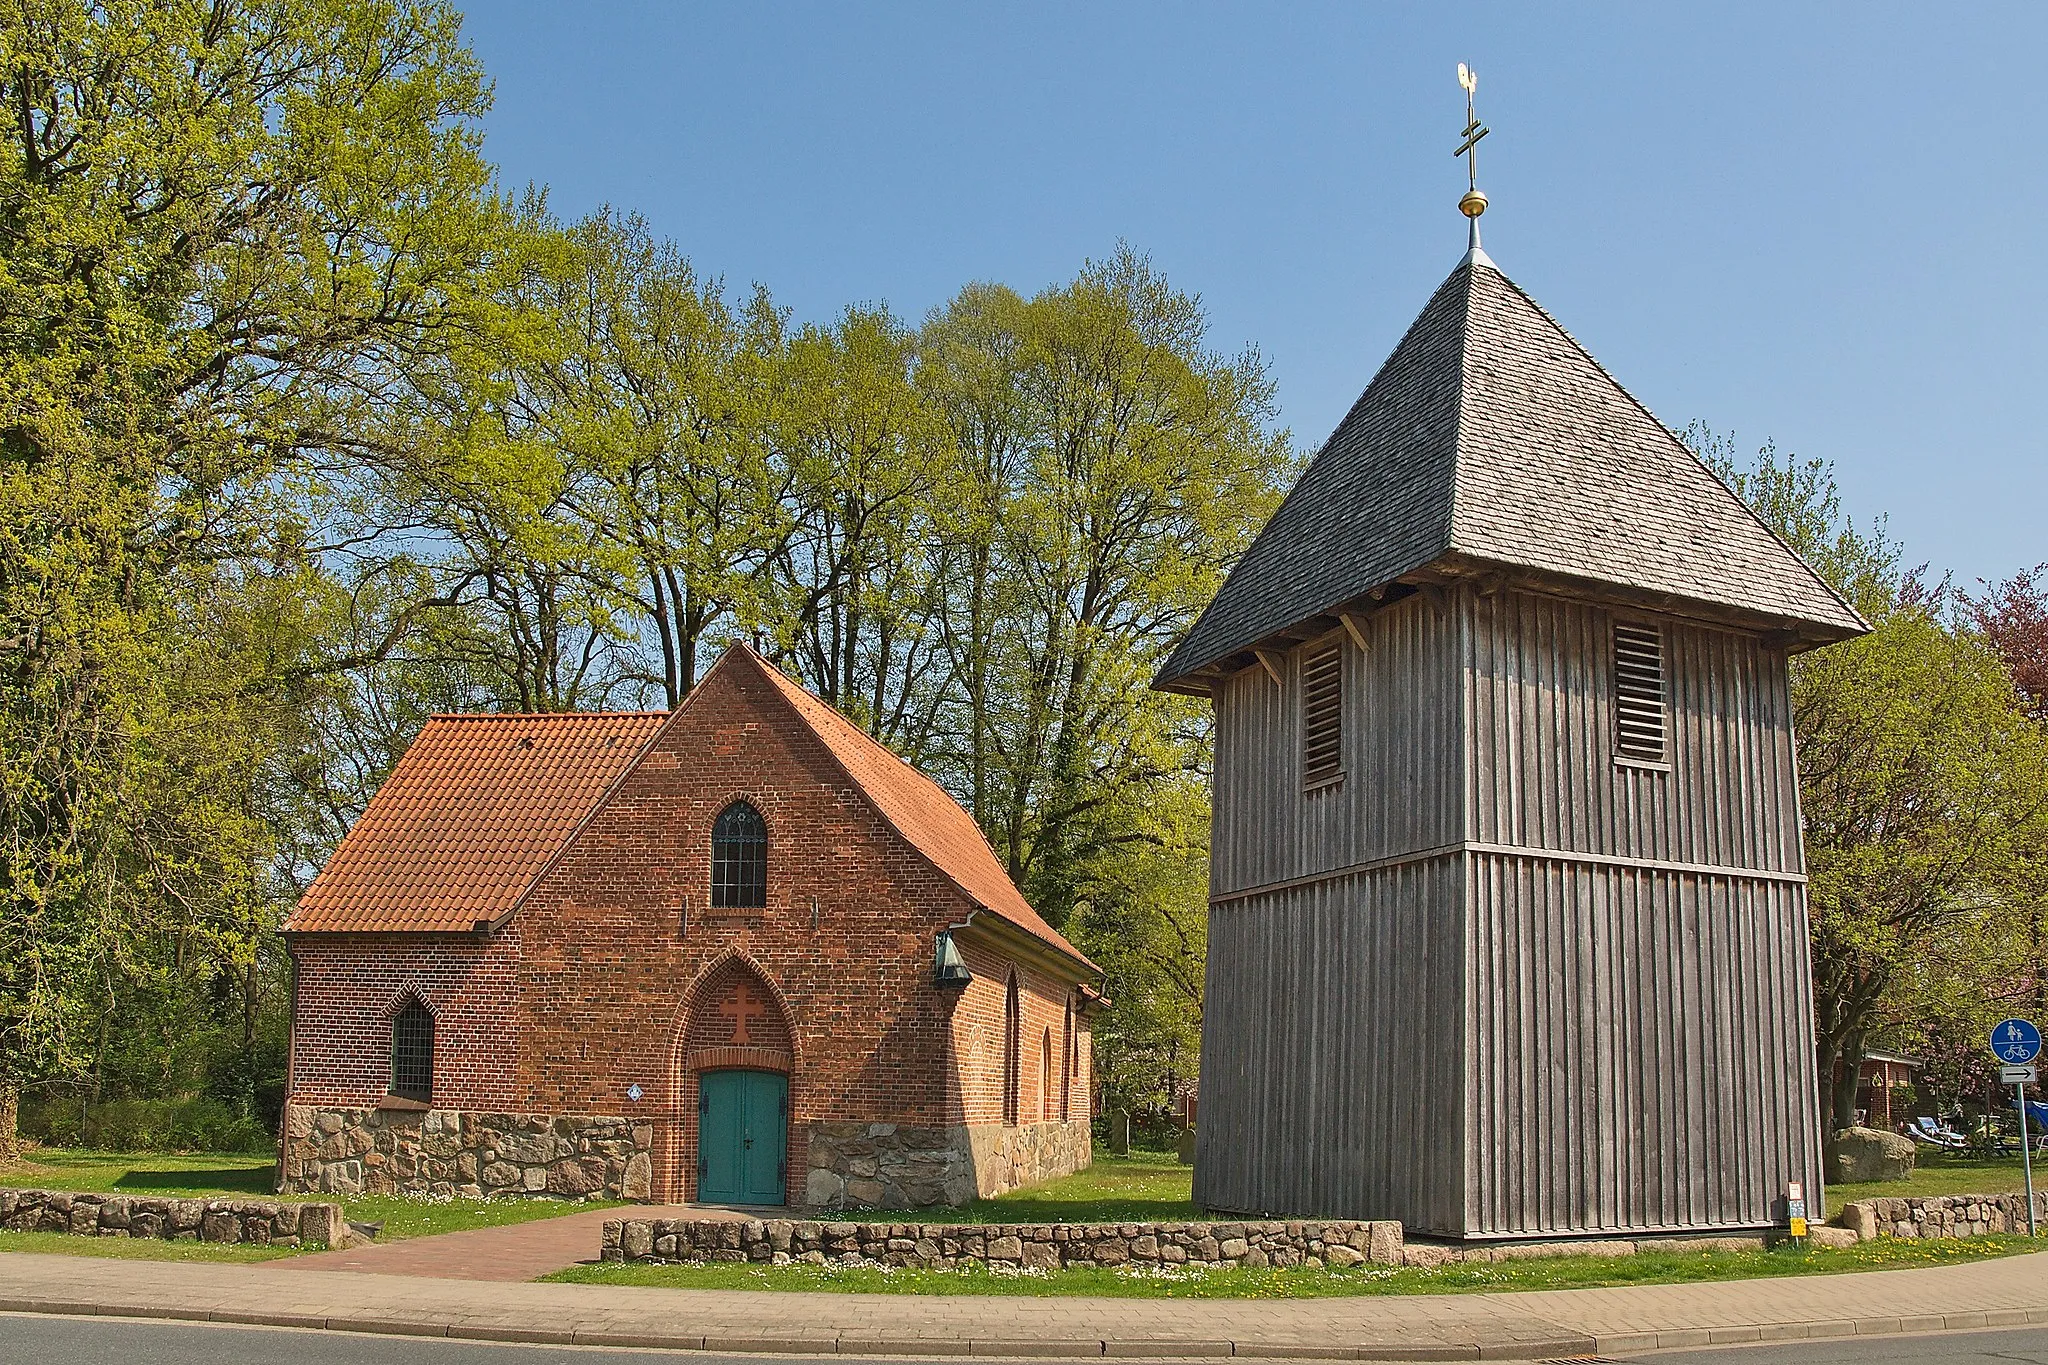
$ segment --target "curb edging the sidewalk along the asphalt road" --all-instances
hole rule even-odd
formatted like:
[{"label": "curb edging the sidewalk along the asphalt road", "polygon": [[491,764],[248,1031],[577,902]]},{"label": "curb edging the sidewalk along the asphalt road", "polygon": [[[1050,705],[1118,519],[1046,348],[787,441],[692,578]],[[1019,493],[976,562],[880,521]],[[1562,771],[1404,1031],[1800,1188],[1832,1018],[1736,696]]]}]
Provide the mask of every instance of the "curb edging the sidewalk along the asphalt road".
[{"label": "curb edging the sidewalk along the asphalt road", "polygon": [[1559,1334],[1501,1342],[1362,1342],[1311,1345],[1272,1340],[1055,1340],[1055,1338],[961,1338],[961,1336],[717,1336],[690,1332],[604,1332],[580,1328],[520,1328],[489,1322],[430,1322],[408,1318],[319,1318],[309,1314],[264,1314],[229,1308],[166,1308],[162,1304],[74,1304],[66,1300],[0,1297],[0,1314],[61,1318],[147,1318],[170,1322],[217,1322],[223,1326],[301,1328],[362,1332],[377,1336],[440,1336],[453,1340],[496,1340],[543,1347],[639,1347],[651,1351],[709,1351],[723,1355],[848,1355],[848,1357],[977,1357],[977,1359],[1276,1359],[1276,1361],[1559,1361],[1604,1355],[1640,1355],[1681,1347],[1724,1347],[1739,1342],[1819,1340],[1829,1336],[1931,1336],[2048,1324],[2048,1308],[2001,1308],[1962,1314],[1919,1314],[1907,1318],[1829,1318],[1815,1322],[1772,1322],[1757,1326],[1679,1328],[1665,1332],[1620,1332],[1604,1336]]}]

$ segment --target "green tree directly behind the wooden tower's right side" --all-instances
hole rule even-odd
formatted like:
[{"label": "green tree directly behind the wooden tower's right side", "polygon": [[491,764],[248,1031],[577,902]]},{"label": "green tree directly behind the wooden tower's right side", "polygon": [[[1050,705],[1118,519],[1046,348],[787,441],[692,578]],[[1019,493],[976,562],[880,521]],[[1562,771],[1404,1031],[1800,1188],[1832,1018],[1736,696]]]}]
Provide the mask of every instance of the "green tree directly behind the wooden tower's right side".
[{"label": "green tree directly behind the wooden tower's right side", "polygon": [[1743,467],[1731,438],[1688,440],[1872,622],[1792,661],[1821,1113],[1837,1132],[1880,1031],[1915,1027],[1911,1011],[1954,1031],[1980,1009],[1982,982],[1931,999],[1927,966],[1960,943],[1999,960],[2030,911],[2048,739],[1954,593],[1903,573],[1882,524],[1853,526],[1825,463],[1763,446]]}]

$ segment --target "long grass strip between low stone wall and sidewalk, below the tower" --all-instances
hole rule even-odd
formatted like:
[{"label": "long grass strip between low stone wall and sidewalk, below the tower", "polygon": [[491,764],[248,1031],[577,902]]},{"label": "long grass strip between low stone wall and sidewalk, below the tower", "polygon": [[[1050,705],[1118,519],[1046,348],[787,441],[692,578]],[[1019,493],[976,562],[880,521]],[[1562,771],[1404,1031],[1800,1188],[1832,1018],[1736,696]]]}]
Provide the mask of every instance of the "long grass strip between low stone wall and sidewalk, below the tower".
[{"label": "long grass strip between low stone wall and sidewalk, below the tower", "polygon": [[651,1285],[668,1289],[827,1289],[838,1293],[1022,1293],[1145,1300],[1315,1300],[1362,1293],[1499,1293],[1509,1289],[1593,1289],[1602,1285],[1675,1285],[1702,1279],[1831,1275],[1915,1265],[1954,1265],[2040,1250],[2023,1236],[1954,1240],[1880,1240],[1843,1250],[1710,1250],[1636,1257],[1544,1257],[1436,1271],[1354,1269],[1073,1269],[1001,1273],[909,1271],[809,1265],[578,1265],[547,1275],[580,1285]]}]

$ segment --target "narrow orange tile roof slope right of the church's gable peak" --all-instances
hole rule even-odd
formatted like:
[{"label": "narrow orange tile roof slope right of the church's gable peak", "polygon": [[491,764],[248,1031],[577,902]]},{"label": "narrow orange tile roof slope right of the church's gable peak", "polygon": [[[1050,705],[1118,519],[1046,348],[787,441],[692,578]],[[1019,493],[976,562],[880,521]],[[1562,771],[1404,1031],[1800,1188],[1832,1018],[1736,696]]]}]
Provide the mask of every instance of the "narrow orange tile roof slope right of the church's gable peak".
[{"label": "narrow orange tile roof slope right of the church's gable peak", "polygon": [[1081,966],[1100,972],[1079,948],[1061,937],[1059,929],[1044,923],[1030,900],[1016,888],[1001,860],[989,847],[981,825],[956,802],[946,788],[938,786],[922,772],[899,759],[885,745],[870,739],[866,731],[836,712],[831,706],[811,696],[795,679],[770,665],[760,655],[733,647],[725,659],[745,657],[766,675],[791,708],[823,741],[831,757],[838,759],[846,776],[854,780],[883,819],[895,825],[911,847],[926,855],[934,868],[952,880],[975,905],[1008,919],[1018,929],[1042,939]]}]

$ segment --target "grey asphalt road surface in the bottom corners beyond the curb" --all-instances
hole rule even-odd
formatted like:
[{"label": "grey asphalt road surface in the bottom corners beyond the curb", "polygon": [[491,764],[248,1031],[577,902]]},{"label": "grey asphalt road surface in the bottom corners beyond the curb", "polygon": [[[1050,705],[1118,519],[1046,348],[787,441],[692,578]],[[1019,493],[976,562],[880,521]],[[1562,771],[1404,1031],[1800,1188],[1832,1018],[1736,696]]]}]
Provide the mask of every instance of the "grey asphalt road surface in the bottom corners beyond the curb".
[{"label": "grey asphalt road surface in the bottom corners beyond the curb", "polygon": [[[0,1314],[6,1365],[811,1365],[766,1355],[717,1357],[672,1351],[502,1347],[422,1336],[293,1332],[123,1318]],[[836,1359],[836,1357],[825,1357]],[[1772,1347],[1720,1347],[1636,1357],[1645,1365],[2048,1365],[2048,1328],[1948,1332],[1942,1336],[1851,1336]]]}]

